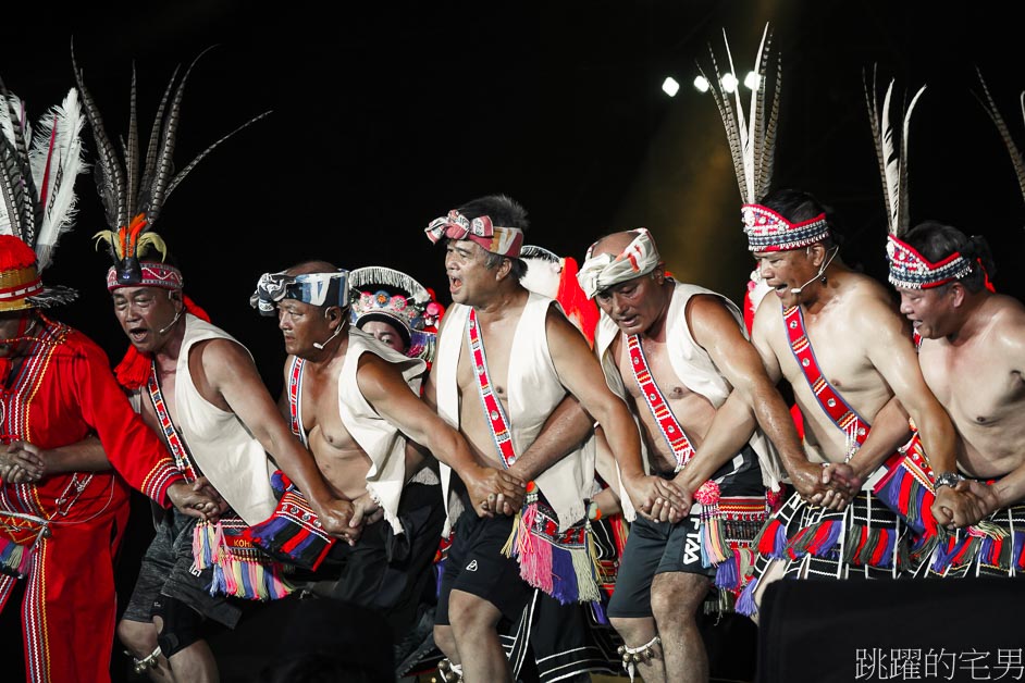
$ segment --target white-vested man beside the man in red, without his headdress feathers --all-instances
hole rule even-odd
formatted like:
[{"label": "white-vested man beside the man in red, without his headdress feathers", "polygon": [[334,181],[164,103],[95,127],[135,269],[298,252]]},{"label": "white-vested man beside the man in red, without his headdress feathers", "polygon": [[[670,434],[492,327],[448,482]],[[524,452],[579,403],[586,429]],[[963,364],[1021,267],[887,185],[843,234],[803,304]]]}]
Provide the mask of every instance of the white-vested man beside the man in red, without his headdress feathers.
[{"label": "white-vested man beside the man in red, without his headdress feathers", "polygon": [[[206,322],[201,309],[182,291],[182,273],[162,261],[119,260],[109,270],[114,313],[132,346],[118,378],[136,392],[144,421],[164,437],[189,481],[208,482],[242,531],[274,511],[268,455],[304,487],[326,533],[353,536],[353,506],[338,497],[309,451],[291,433],[244,346]],[[211,572],[231,580],[224,567],[193,571],[194,523],[178,516],[161,519],[143,559],[135,591],[118,635],[137,659],[137,670],[178,680],[215,680],[217,665],[203,639],[213,620],[234,628],[239,606],[210,594]],[[212,529],[211,529],[212,531]],[[211,534],[212,535],[212,534]],[[218,537],[229,534],[218,534]],[[238,537],[238,536],[233,536]],[[280,576],[265,558],[238,548],[246,575],[265,585],[246,586],[245,597],[281,597]],[[244,556],[244,557],[243,557]],[[227,574],[225,576],[225,574]],[[240,595],[242,591],[221,591]]]}]

